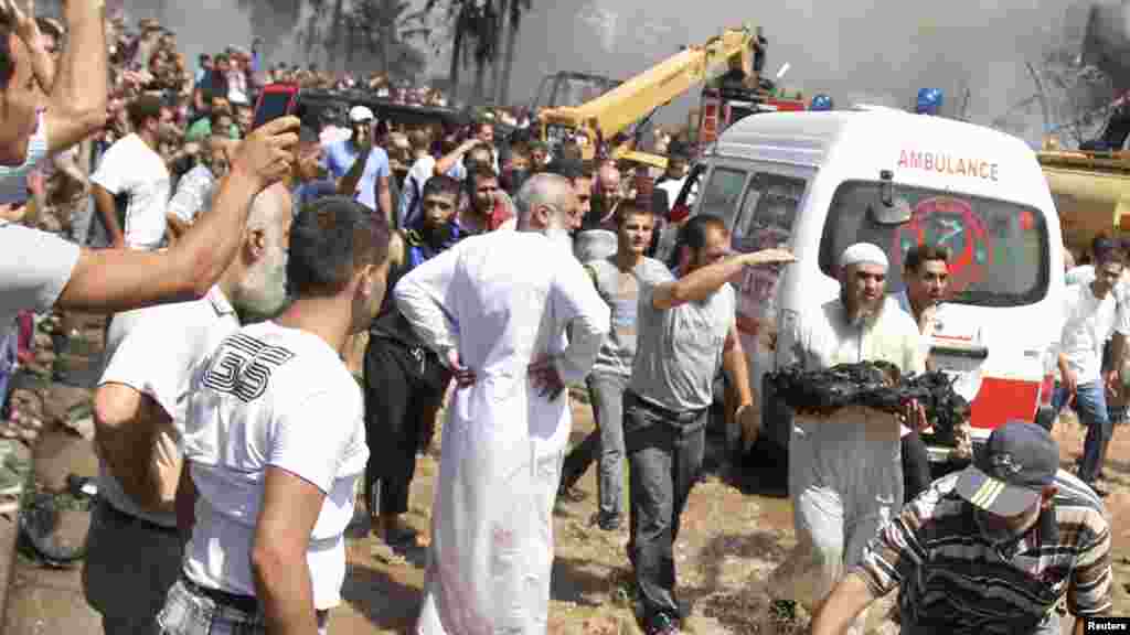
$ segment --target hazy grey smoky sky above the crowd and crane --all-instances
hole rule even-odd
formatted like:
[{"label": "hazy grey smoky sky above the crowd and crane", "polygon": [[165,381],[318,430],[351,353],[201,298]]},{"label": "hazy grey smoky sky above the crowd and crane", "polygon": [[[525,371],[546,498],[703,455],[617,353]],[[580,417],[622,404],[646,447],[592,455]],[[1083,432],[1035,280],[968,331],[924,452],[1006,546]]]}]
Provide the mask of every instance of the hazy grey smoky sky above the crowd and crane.
[{"label": "hazy grey smoky sky above the crowd and crane", "polygon": [[[293,55],[292,19],[285,15],[272,19],[267,9],[292,3],[249,3],[255,8],[254,31],[273,44],[272,61],[302,61]],[[177,31],[192,58],[252,36],[249,11],[232,0],[191,5],[125,0],[124,5],[133,18],[162,17]],[[516,99],[531,96],[540,77],[558,68],[629,77],[679,45],[701,43],[724,26],[748,20],[764,26],[770,38],[768,70],[775,72],[788,61],[791,70],[783,84],[803,90],[806,97],[823,92],[837,104],[905,106],[918,88],[932,86],[946,90],[954,112],[968,88],[966,112],[982,123],[1035,92],[1024,62],[1037,61],[1049,44],[1077,45],[1087,17],[1086,3],[1070,0],[999,0],[988,7],[974,0],[791,0],[760,8],[733,0],[534,0],[533,5],[523,23],[514,69]],[[445,70],[445,56],[434,58],[434,72]],[[672,104],[661,120],[681,121],[689,102]],[[1017,116],[1028,124],[1025,137],[1037,140],[1038,108]]]}]

